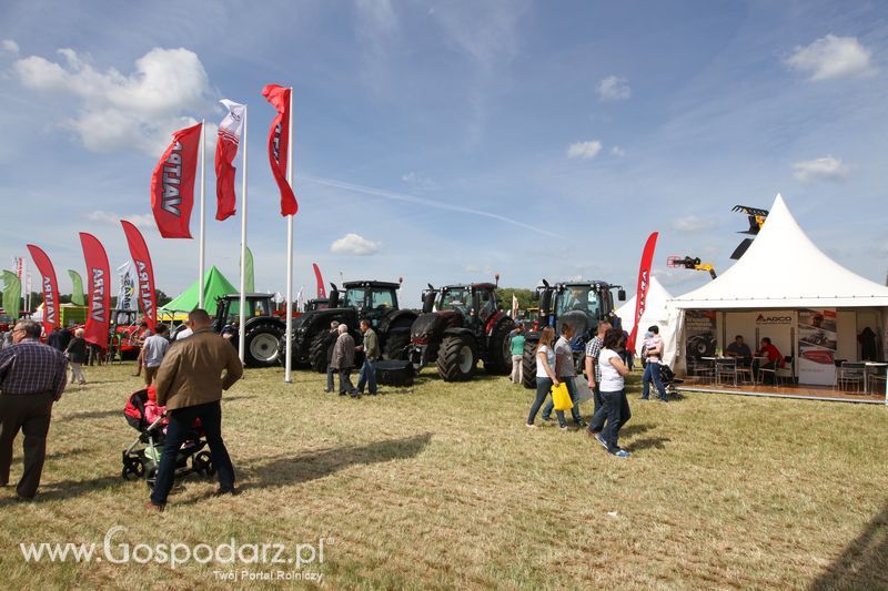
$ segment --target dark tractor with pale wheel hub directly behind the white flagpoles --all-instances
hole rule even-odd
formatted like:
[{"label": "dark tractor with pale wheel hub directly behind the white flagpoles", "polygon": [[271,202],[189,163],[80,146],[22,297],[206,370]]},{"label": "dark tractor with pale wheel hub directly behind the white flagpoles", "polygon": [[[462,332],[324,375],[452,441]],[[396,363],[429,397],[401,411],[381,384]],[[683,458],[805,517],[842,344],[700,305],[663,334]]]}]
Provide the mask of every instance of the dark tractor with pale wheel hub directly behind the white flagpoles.
[{"label": "dark tractor with pale wheel hub directly behind the white flagpoles", "polygon": [[[246,367],[272,367],[278,365],[278,351],[286,333],[283,318],[273,315],[274,300],[271,294],[246,294],[246,320],[244,323],[244,365]],[[215,299],[213,330],[221,333],[230,327],[231,344],[238,347],[241,319],[241,296],[229,294]]]}]

